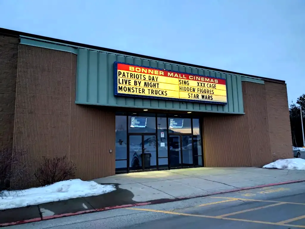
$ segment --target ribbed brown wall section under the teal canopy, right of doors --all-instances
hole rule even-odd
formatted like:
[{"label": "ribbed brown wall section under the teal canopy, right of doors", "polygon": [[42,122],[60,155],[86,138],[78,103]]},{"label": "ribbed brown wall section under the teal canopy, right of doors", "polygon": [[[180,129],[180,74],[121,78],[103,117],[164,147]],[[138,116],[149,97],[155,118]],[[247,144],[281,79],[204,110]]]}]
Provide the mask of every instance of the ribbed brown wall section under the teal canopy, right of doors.
[{"label": "ribbed brown wall section under the teal canopy, right of doors", "polygon": [[203,119],[204,166],[251,166],[249,133],[245,115]]}]

